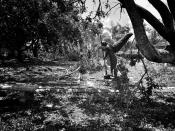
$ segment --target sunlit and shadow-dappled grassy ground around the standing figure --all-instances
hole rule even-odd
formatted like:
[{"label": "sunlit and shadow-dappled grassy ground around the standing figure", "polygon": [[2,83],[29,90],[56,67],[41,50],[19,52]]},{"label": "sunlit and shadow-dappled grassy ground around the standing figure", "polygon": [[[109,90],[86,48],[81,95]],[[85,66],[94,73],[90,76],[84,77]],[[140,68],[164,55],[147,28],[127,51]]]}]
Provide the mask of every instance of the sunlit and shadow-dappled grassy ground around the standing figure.
[{"label": "sunlit and shadow-dappled grassy ground around the standing figure", "polygon": [[[34,92],[34,99],[25,102],[18,91],[0,92],[0,131],[171,131],[175,128],[173,88],[155,91],[149,103],[129,90],[128,84],[137,82],[143,73],[140,63],[136,67],[127,65],[130,82],[122,86],[123,92],[116,90],[115,81],[103,80],[104,71],[83,75],[83,81],[77,79],[76,73],[58,80],[65,73],[58,67],[74,64],[62,61],[2,67],[1,77],[6,77],[1,86],[32,85],[39,89]],[[157,82],[167,78],[166,70],[173,72],[172,67],[165,67],[163,77],[159,78],[156,73],[164,69],[163,65],[147,64]],[[168,78],[173,78],[172,75],[169,73]]]}]

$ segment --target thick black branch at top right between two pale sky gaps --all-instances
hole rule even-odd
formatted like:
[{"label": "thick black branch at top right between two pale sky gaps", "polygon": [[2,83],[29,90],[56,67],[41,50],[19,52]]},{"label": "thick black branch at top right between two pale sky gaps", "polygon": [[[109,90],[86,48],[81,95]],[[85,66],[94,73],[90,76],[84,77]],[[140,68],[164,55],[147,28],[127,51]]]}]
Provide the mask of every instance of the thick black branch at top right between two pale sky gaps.
[{"label": "thick black branch at top right between two pale sky gaps", "polygon": [[174,30],[173,17],[171,15],[168,7],[161,0],[148,0],[148,1],[159,12],[160,16],[162,17],[162,21],[163,21],[166,29],[168,30],[168,32],[173,31]]}]

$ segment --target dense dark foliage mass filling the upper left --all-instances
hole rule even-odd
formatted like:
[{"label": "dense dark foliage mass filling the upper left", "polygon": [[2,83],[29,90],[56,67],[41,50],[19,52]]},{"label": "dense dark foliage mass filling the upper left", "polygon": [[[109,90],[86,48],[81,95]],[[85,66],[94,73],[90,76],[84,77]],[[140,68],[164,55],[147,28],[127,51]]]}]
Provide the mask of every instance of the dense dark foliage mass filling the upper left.
[{"label": "dense dark foliage mass filling the upper left", "polygon": [[[75,3],[64,0],[1,1],[0,49],[8,49],[8,53],[20,59],[24,50],[32,51],[37,57],[41,47],[49,51],[54,45],[65,47],[68,41],[74,45],[81,43],[79,11]],[[66,51],[66,47],[63,50]]]}]

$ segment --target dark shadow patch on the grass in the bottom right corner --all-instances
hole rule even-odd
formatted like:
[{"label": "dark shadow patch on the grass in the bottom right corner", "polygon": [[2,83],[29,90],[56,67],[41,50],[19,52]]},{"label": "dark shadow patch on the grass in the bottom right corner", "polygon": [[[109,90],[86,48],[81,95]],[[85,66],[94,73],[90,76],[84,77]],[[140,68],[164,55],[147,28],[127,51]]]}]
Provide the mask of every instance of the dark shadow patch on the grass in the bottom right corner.
[{"label": "dark shadow patch on the grass in the bottom right corner", "polygon": [[151,126],[162,129],[175,128],[175,103],[135,101],[128,112],[128,120],[135,127]]}]

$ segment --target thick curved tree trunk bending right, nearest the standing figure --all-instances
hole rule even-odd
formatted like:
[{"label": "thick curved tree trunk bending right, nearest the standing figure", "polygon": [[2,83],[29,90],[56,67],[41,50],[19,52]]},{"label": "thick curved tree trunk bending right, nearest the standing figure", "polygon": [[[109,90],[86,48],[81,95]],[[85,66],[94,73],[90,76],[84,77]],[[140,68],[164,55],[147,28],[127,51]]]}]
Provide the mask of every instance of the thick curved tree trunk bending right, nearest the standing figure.
[{"label": "thick curved tree trunk bending right, nearest the standing figure", "polygon": [[158,63],[175,64],[175,55],[168,51],[158,51],[149,42],[143,26],[143,19],[140,16],[134,0],[119,0],[126,8],[134,29],[137,47],[146,59]]}]

